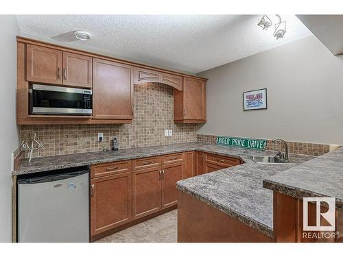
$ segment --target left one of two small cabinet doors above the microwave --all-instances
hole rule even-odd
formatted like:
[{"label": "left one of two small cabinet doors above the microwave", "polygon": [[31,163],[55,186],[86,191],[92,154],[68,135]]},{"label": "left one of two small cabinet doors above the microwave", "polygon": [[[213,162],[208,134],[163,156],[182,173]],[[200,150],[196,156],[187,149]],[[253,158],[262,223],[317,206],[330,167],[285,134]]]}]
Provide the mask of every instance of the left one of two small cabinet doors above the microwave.
[{"label": "left one of two small cabinet doors above the microwave", "polygon": [[27,44],[26,79],[29,82],[62,84],[62,51]]}]

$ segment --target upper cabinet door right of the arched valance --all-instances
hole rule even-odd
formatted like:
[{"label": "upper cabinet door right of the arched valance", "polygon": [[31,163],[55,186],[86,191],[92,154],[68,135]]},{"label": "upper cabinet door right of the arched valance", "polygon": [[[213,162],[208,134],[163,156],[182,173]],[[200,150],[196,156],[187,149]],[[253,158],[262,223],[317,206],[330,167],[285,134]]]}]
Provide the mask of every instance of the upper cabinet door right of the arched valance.
[{"label": "upper cabinet door right of the arched valance", "polygon": [[184,77],[184,119],[206,120],[206,84],[200,79]]}]

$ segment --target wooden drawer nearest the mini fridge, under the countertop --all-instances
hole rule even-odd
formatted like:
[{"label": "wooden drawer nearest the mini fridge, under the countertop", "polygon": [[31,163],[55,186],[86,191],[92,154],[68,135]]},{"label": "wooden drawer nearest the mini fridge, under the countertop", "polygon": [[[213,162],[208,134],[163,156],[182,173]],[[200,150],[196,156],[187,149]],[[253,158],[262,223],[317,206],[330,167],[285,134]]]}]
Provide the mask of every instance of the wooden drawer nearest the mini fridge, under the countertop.
[{"label": "wooden drawer nearest the mini fridge, under the countertop", "polygon": [[125,160],[123,162],[95,164],[91,165],[91,178],[99,178],[105,175],[113,175],[127,171],[132,171],[131,160]]}]

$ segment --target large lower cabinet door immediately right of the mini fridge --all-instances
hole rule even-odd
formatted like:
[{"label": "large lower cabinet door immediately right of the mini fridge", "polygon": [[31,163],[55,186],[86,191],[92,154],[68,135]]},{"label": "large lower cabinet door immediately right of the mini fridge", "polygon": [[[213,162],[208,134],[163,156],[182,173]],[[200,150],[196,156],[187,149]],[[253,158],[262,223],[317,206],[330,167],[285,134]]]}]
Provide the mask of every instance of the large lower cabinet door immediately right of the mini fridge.
[{"label": "large lower cabinet door immediately right of the mini fridge", "polygon": [[132,221],[132,173],[91,179],[91,236]]}]

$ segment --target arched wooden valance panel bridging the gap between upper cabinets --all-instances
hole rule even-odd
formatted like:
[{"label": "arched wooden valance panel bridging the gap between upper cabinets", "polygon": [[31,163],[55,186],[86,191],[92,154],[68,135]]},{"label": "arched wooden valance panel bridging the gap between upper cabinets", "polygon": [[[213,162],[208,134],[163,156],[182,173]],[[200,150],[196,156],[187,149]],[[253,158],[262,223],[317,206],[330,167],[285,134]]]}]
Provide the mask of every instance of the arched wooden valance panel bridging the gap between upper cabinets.
[{"label": "arched wooden valance panel bridging the gap between upper cabinets", "polygon": [[177,90],[183,90],[182,76],[148,69],[135,68],[134,84],[143,84],[148,82],[163,83],[172,86]]}]

